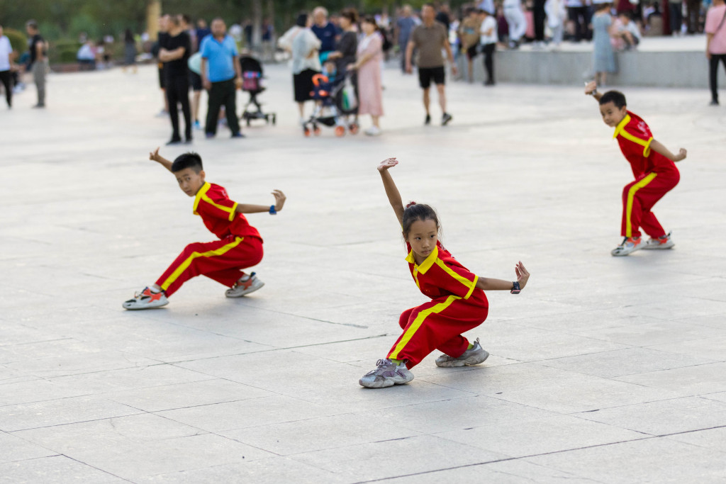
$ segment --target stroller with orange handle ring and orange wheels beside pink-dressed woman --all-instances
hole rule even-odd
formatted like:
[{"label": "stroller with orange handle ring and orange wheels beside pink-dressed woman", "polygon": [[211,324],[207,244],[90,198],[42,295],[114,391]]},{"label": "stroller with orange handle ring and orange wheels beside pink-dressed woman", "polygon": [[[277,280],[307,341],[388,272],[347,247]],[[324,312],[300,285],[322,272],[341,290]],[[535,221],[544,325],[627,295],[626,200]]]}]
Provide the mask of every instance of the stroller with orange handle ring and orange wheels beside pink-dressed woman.
[{"label": "stroller with orange handle ring and orange wheels beside pink-dressed woman", "polygon": [[[348,74],[349,75],[349,74]],[[312,98],[317,101],[315,110],[305,123],[303,134],[310,136],[311,130],[315,136],[320,134],[320,125],[335,126],[335,136],[345,136],[346,128],[351,134],[357,134],[360,126],[356,116],[356,106],[349,107],[348,99],[343,95],[343,87],[348,76],[328,77],[325,74],[313,76]],[[351,120],[350,118],[353,118]]]}]

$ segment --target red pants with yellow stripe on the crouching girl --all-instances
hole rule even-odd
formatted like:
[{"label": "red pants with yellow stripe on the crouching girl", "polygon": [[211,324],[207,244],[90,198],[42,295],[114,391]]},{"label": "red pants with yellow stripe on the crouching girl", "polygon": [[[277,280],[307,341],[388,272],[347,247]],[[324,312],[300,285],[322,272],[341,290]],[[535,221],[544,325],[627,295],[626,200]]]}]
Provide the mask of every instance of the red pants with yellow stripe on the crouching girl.
[{"label": "red pants with yellow stripe on the crouching girl", "polygon": [[388,353],[388,358],[407,360],[412,369],[435,349],[453,358],[466,351],[469,341],[461,335],[486,319],[489,303],[484,292],[475,290],[469,299],[441,296],[401,313],[403,335]]}]

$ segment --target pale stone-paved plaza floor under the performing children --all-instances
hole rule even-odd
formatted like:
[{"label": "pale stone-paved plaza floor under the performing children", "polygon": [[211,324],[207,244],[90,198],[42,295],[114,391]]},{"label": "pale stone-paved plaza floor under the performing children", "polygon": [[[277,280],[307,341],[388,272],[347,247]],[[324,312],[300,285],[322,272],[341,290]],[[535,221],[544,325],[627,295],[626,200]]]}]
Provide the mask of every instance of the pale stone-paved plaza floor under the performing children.
[{"label": "pale stone-paved plaza floor under the performing children", "polygon": [[[287,194],[249,216],[266,286],[231,300],[193,279],[151,311],[121,303],[213,239],[147,159],[171,132],[154,67],[51,75],[47,110],[32,85],[0,107],[0,483],[725,482],[726,108],[707,91],[625,89],[688,159],[655,210],[676,247],[613,258],[632,173],[582,82],[454,83],[451,125],[435,108],[424,127],[391,66],[383,136],[305,139],[289,70],[268,74],[277,126],[193,145],[234,200]],[[434,353],[368,390],[425,301],[375,170],[389,156],[465,266],[532,275],[489,292],[467,335],[484,364]]]}]

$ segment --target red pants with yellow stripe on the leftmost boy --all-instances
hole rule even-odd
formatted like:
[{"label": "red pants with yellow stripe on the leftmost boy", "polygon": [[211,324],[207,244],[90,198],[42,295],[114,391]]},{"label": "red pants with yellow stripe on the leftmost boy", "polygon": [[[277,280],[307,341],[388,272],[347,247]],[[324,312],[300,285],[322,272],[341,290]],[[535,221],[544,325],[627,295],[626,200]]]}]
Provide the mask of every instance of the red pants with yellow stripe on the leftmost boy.
[{"label": "red pants with yellow stripe on the leftmost boy", "polygon": [[232,287],[244,274],[243,268],[256,266],[261,260],[262,241],[257,237],[229,235],[214,242],[195,242],[184,247],[156,284],[167,296],[200,275]]}]

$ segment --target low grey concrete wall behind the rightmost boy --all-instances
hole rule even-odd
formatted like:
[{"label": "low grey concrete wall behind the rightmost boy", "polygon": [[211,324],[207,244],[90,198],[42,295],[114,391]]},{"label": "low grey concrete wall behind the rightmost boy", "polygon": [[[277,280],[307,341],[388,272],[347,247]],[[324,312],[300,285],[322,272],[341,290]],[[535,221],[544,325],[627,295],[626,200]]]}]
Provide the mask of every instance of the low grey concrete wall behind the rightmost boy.
[{"label": "low grey concrete wall behind the rightmost boy", "polygon": [[[592,79],[592,52],[497,51],[497,82],[579,84]],[[611,86],[654,86],[708,89],[709,65],[705,54],[688,52],[619,52],[618,73],[608,74]],[[475,80],[484,81],[483,57],[475,62]],[[465,68],[460,56],[460,70]],[[719,67],[719,86],[726,88],[726,72]],[[465,73],[464,70],[461,70]]]}]

